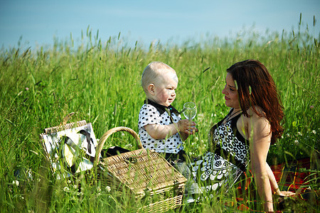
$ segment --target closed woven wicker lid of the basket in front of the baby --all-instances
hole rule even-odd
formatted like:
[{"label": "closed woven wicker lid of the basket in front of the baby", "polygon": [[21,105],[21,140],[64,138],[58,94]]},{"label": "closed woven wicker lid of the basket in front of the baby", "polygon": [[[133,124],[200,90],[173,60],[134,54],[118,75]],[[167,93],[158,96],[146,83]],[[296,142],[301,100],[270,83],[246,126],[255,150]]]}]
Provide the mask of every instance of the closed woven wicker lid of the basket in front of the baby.
[{"label": "closed woven wicker lid of the basket in front of the baby", "polygon": [[102,165],[113,182],[125,185],[136,196],[144,195],[146,190],[184,185],[187,181],[159,153],[144,148],[104,158]]}]

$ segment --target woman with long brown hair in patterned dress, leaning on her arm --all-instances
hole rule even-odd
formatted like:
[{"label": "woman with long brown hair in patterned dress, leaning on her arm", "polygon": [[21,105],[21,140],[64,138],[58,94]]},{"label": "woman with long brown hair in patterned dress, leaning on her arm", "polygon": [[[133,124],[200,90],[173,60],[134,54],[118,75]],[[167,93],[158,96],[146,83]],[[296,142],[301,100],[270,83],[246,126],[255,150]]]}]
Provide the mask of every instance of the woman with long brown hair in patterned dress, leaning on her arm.
[{"label": "woman with long brown hair in patterned dress, leaning on her arm", "polygon": [[[210,129],[212,151],[192,163],[198,193],[232,185],[250,163],[265,211],[272,212],[272,190],[280,192],[267,153],[282,135],[283,107],[267,68],[257,60],[237,62],[227,70],[225,105],[230,112]],[[194,185],[193,185],[194,186]]]}]

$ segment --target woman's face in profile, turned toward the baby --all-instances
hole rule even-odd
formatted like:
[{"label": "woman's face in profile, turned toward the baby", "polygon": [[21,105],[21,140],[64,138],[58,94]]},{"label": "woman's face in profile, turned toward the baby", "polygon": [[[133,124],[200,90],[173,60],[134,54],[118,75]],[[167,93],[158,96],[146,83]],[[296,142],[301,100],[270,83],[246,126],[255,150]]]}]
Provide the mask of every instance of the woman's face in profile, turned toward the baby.
[{"label": "woman's face in profile, turned toward the baby", "polygon": [[225,89],[222,91],[225,94],[225,105],[235,109],[240,108],[238,90],[235,87],[233,76],[228,72],[225,77]]}]

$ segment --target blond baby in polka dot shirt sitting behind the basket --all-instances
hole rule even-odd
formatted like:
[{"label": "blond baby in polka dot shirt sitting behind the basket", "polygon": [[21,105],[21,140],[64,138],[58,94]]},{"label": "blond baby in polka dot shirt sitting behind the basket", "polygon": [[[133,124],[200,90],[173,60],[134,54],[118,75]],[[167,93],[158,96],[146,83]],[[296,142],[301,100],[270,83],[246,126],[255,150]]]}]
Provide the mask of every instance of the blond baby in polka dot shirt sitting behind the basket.
[{"label": "blond baby in polka dot shirt sitting behind the basket", "polygon": [[183,141],[198,131],[196,123],[181,120],[171,106],[176,98],[176,71],[163,62],[151,62],[142,73],[142,87],[146,101],[139,112],[139,135],[142,146],[164,153],[166,160],[175,164],[186,161]]}]

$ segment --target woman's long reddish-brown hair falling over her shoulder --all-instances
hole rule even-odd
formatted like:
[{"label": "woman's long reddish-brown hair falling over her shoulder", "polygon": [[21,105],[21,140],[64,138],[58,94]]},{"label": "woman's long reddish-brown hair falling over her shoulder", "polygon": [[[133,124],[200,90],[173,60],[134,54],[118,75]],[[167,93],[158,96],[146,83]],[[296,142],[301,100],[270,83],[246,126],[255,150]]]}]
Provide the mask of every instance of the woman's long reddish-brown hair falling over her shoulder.
[{"label": "woman's long reddish-brown hair falling over her shoulder", "polygon": [[[243,114],[249,116],[247,109],[252,107],[258,116],[265,116],[271,125],[271,144],[274,144],[283,133],[280,121],[284,113],[277,87],[267,68],[258,60],[244,60],[229,67],[227,72],[238,87]],[[265,114],[259,113],[255,106],[261,107]]]}]

